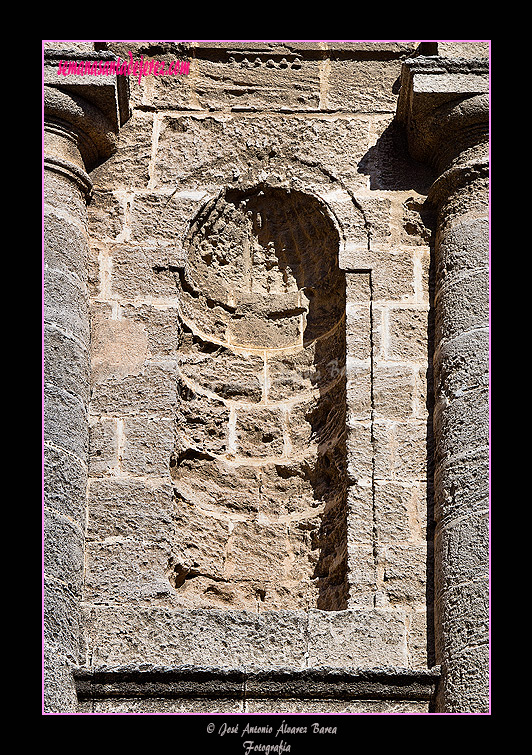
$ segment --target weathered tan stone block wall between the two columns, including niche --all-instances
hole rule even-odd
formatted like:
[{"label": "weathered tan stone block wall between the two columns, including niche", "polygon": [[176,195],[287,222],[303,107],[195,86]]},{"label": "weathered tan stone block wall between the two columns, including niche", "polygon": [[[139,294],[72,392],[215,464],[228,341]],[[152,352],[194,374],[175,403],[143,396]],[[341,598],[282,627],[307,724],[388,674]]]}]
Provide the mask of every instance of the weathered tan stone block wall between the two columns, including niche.
[{"label": "weathered tan stone block wall between the two columns, including niche", "polygon": [[[404,62],[435,44],[95,44],[190,72],[130,77],[90,174],[87,673],[437,662],[435,172],[396,119]],[[89,678],[81,710],[204,709],[89,704]],[[312,705],[428,710],[436,679]]]}]

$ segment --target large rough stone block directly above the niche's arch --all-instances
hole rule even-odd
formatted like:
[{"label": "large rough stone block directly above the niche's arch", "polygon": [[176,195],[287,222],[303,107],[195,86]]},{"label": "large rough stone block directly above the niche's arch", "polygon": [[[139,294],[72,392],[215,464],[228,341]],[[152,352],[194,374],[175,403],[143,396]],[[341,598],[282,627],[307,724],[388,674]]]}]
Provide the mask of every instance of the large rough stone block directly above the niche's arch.
[{"label": "large rough stone block directly above the niche's arch", "polygon": [[[328,184],[329,174],[341,172],[350,186],[360,187],[365,178],[356,161],[369,147],[368,131],[367,119],[353,117],[168,115],[160,126],[154,182],[157,188],[177,185],[216,193],[250,170],[283,175],[292,163],[305,172],[307,165],[317,165],[315,181]],[[346,154],[352,156],[349,165]],[[360,237],[366,239],[363,227]]]}]

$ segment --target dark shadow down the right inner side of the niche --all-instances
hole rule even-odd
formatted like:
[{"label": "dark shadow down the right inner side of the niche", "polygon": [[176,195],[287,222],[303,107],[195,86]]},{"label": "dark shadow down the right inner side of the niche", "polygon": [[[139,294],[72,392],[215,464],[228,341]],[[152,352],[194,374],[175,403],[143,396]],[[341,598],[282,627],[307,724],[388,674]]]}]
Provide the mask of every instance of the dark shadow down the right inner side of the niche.
[{"label": "dark shadow down the right inner side of the niche", "polygon": [[[310,382],[318,390],[302,403],[307,427],[301,447],[316,449],[307,468],[313,497],[322,509],[311,537],[319,556],[312,572],[318,585],[316,607],[347,608],[347,463],[345,274],[338,267],[339,236],[319,201],[300,192],[260,192],[252,203],[261,217],[257,239],[275,250],[283,279],[293,276],[304,295],[303,347],[312,362]],[[299,435],[299,433],[298,433]],[[293,440],[294,440],[293,436]]]}]

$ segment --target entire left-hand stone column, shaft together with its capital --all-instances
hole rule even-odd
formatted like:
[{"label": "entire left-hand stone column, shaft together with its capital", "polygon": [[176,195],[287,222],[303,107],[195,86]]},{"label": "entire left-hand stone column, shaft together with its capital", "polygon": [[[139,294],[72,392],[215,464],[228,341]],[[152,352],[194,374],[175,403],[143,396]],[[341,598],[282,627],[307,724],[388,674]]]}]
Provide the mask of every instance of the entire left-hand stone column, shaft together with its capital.
[{"label": "entire left-hand stone column, shaft together with its capital", "polygon": [[88,461],[88,174],[113,153],[127,117],[127,77],[58,70],[60,60],[106,55],[46,51],[44,61],[45,712],[77,706],[71,669],[80,653]]}]

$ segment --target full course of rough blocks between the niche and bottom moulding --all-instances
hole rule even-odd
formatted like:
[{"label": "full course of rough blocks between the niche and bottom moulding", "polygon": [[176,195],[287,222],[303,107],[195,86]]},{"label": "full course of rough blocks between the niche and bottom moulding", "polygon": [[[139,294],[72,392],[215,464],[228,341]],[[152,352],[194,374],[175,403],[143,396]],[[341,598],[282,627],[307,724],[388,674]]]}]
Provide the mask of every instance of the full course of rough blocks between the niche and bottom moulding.
[{"label": "full course of rough blocks between the niche and bottom moulding", "polygon": [[253,613],[214,608],[84,604],[95,666],[404,668],[404,611],[310,609]]}]

